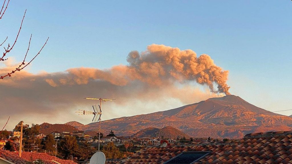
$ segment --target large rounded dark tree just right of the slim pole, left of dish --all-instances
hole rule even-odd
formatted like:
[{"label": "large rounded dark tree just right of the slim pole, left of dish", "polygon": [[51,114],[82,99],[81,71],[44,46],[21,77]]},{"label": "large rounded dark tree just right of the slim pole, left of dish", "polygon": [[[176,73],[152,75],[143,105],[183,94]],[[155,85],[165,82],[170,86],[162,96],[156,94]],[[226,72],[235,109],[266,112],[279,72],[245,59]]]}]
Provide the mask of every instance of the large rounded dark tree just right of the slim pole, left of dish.
[{"label": "large rounded dark tree just right of the slim pole, left of dish", "polygon": [[78,149],[79,146],[77,144],[77,140],[73,136],[66,136],[60,141],[60,145],[58,145],[58,151],[65,159],[69,156],[78,155]]}]

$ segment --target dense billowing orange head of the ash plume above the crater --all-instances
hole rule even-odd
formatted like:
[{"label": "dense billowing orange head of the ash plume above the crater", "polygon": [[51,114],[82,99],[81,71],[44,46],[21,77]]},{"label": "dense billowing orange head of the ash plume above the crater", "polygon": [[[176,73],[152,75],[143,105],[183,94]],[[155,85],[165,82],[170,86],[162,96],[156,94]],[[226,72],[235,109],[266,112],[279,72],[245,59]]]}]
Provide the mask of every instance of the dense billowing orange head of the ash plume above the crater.
[{"label": "dense billowing orange head of the ash plume above the crater", "polygon": [[[164,45],[152,44],[147,51],[132,51],[127,57],[133,79],[150,84],[163,85],[170,81],[196,81],[206,84],[212,92],[230,95],[226,84],[228,71],[214,64],[209,55],[197,57],[193,50],[180,50]],[[213,83],[218,85],[214,89]]]}]

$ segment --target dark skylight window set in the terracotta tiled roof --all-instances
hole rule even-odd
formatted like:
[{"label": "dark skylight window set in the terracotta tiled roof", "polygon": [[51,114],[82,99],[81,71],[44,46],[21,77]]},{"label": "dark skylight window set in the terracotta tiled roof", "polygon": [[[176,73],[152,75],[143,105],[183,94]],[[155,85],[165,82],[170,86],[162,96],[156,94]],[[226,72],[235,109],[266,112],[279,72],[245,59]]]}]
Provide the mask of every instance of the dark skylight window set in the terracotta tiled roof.
[{"label": "dark skylight window set in the terracotta tiled roof", "polygon": [[192,164],[209,153],[210,151],[186,151],[166,161],[164,164]]}]

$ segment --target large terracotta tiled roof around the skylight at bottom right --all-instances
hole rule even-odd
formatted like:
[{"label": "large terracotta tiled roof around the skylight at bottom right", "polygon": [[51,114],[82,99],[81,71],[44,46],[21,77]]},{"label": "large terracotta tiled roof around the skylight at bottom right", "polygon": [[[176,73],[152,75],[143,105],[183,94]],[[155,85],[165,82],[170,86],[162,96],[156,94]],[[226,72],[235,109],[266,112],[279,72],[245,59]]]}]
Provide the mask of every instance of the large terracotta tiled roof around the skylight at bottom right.
[{"label": "large terracotta tiled roof around the skylight at bottom right", "polygon": [[[117,164],[164,163],[183,151],[211,151],[195,164],[292,164],[291,133],[248,135],[236,142],[175,144],[167,147],[142,149],[131,157],[114,161]],[[107,160],[112,164],[112,160]]]}]

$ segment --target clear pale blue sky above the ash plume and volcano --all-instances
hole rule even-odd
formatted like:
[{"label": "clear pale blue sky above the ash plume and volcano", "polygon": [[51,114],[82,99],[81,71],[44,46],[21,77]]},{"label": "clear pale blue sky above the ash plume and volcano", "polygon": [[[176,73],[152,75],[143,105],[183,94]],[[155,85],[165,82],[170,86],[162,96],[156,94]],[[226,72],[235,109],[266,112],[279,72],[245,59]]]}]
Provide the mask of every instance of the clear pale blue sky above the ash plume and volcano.
[{"label": "clear pale blue sky above the ash plume and volcano", "polygon": [[30,55],[50,37],[31,73],[127,65],[130,51],[164,44],[210,55],[229,71],[230,92],[251,104],[270,111],[292,109],[291,0],[11,0],[0,38],[13,42],[25,9],[22,44],[11,56],[22,60],[31,33]]}]

